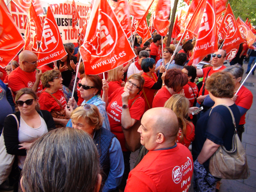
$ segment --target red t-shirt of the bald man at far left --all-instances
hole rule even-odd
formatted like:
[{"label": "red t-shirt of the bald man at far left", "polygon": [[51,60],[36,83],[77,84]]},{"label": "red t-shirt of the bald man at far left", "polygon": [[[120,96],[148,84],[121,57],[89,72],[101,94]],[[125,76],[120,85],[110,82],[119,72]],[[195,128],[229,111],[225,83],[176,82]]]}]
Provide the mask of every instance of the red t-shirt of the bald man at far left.
[{"label": "red t-shirt of the bald man at far left", "polygon": [[[19,67],[13,70],[8,77],[8,86],[13,91],[14,95],[15,91],[19,91],[22,88],[32,88],[35,82],[35,73],[36,72],[25,72]],[[42,82],[40,80],[36,94],[39,97],[42,92]]]}]

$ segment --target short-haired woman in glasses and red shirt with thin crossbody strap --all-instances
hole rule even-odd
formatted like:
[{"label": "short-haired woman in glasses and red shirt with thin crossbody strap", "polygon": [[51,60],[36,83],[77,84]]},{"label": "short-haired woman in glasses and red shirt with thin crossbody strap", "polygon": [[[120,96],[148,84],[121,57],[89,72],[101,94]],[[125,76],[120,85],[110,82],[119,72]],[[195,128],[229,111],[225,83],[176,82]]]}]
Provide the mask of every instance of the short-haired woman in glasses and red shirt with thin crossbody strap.
[{"label": "short-haired woman in glasses and red shirt with thin crossbody strap", "polygon": [[[40,110],[51,112],[57,127],[66,126],[69,119],[64,118],[67,101],[62,89],[62,77],[58,70],[46,71],[41,76],[42,85],[45,87],[39,96]],[[58,114],[58,115],[55,115]]]}]

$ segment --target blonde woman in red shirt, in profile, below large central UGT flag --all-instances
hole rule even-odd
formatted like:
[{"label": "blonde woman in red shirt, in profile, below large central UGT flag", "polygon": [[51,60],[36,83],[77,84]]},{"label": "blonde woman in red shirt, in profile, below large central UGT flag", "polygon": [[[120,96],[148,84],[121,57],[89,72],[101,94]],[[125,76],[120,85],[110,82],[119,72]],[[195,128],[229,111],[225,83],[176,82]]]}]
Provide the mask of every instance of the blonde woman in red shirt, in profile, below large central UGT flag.
[{"label": "blonde woman in red shirt, in profile, below large central UGT flag", "polygon": [[109,82],[109,95],[111,95],[118,88],[124,87],[125,82],[122,81],[124,77],[123,66],[119,66],[109,71],[108,79]]}]

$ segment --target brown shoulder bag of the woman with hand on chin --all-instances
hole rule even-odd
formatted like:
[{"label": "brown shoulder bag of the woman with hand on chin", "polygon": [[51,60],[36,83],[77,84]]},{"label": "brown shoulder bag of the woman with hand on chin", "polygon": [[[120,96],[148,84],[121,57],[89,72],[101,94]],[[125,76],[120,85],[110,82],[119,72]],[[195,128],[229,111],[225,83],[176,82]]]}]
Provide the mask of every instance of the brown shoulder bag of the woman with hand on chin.
[{"label": "brown shoulder bag of the woman with hand on chin", "polygon": [[[138,98],[141,98],[141,97],[138,97]],[[131,106],[129,106],[130,108],[132,107],[132,105],[135,103],[135,101],[138,98],[136,98],[133,101]],[[123,130],[123,134],[124,134],[124,138],[125,138],[125,145],[124,146],[130,152],[135,152],[141,146],[140,133],[138,132],[138,129],[139,129],[140,125],[141,125],[141,119],[136,121],[136,123],[133,126],[131,126],[129,129],[124,129],[124,127],[122,126],[122,130]]]}]

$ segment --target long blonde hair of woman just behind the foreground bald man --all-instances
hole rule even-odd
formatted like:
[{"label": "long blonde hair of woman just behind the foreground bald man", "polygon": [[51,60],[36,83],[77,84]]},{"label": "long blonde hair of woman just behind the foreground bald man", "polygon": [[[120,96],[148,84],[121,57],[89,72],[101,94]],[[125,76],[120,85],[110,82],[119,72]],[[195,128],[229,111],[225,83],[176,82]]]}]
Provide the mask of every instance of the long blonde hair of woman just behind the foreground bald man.
[{"label": "long blonde hair of woman just behind the foreground bald man", "polygon": [[[173,110],[176,114],[179,122],[179,127],[182,130],[180,137],[180,142],[182,142],[186,137],[186,125],[187,123],[189,123],[189,121],[186,119],[189,109],[188,99],[184,95],[175,94],[165,102],[164,107]],[[177,135],[177,139],[178,136],[179,135]]]}]

